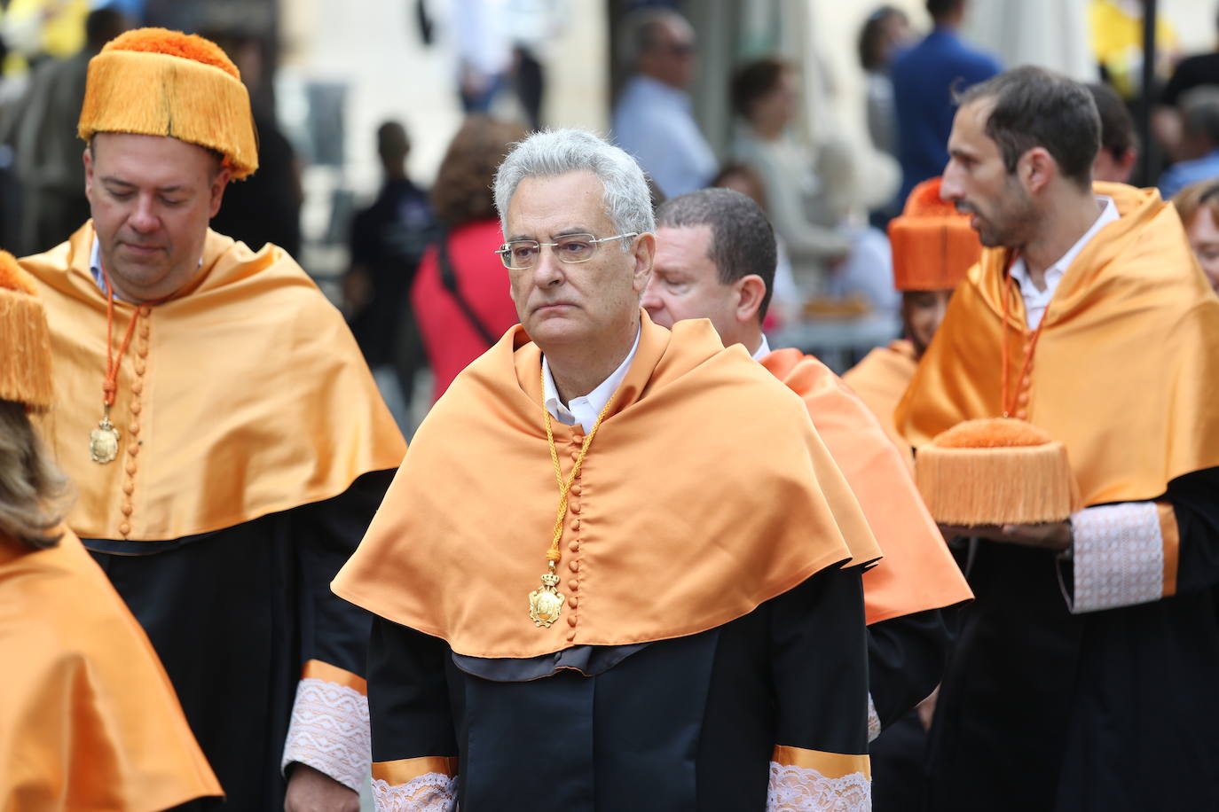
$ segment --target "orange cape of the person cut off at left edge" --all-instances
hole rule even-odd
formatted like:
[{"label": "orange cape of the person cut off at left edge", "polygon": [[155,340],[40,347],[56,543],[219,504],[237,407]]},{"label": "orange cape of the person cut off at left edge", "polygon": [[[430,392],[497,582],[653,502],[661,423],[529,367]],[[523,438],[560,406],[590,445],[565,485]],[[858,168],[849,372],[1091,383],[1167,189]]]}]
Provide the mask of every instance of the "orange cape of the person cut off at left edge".
[{"label": "orange cape of the person cut off at left edge", "polygon": [[151,812],[221,795],[161,663],[66,531],[0,534],[0,807]]}]

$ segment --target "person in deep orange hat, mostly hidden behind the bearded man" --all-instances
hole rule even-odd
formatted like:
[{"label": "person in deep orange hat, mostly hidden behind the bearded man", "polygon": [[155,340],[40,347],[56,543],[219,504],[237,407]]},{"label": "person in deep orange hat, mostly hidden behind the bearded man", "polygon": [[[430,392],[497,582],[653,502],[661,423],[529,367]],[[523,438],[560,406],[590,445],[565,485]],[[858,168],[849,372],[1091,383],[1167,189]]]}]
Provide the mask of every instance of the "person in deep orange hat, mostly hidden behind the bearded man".
[{"label": "person in deep orange hat, mostly hidden behind the bearded man", "polygon": [[894,442],[908,449],[909,443],[894,426],[894,410],[944,320],[953,289],[978,261],[983,246],[969,228],[969,218],[940,200],[939,178],[914,186],[901,217],[889,224],[889,241],[894,287],[902,292],[902,324],[908,337],[873,349],[844,373],[842,380],[880,419]]}]

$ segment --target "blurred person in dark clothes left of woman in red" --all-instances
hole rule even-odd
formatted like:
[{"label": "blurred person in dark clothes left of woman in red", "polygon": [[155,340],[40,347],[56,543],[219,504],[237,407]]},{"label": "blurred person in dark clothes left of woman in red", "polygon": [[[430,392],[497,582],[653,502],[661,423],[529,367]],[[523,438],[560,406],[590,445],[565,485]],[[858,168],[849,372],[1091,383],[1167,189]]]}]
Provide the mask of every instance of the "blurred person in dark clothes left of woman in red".
[{"label": "blurred person in dark clothes left of woman in red", "polygon": [[344,309],[364,360],[378,376],[393,370],[402,404],[410,407],[414,373],[422,364],[410,290],[433,237],[434,218],[428,191],[406,173],[411,139],[400,122],[377,128],[377,155],[382,187],[372,206],[351,222]]}]

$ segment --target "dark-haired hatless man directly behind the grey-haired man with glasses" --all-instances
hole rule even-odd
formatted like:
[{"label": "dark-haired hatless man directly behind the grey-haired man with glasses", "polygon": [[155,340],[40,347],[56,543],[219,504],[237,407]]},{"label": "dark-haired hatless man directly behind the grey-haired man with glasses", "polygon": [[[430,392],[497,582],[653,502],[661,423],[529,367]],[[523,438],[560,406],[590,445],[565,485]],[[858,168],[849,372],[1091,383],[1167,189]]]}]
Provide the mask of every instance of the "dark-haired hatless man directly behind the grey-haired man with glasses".
[{"label": "dark-haired hatless man directly behind the grey-haired man with glasses", "polygon": [[703,189],[657,212],[657,248],[644,307],[667,327],[711,319],[801,396],[885,559],[863,576],[868,620],[869,738],[925,699],[940,679],[948,637],[939,610],[969,589],[923,506],[902,453],[868,407],[824,364],[797,349],[770,352],[762,319],[774,281],[774,231],[761,207],[730,189]]}]

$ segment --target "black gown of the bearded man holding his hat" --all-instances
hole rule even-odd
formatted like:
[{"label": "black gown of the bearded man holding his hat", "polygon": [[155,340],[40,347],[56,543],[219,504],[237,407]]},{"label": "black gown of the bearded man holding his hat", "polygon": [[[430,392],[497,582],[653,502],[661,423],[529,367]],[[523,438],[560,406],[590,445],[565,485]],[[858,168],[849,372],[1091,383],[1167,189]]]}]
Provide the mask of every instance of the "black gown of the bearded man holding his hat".
[{"label": "black gown of the bearded man holding his hat", "polygon": [[1219,810],[1215,494],[1219,469],[1169,483],[1176,594],[1153,603],[1072,615],[1069,564],[973,544],[925,808]]}]

